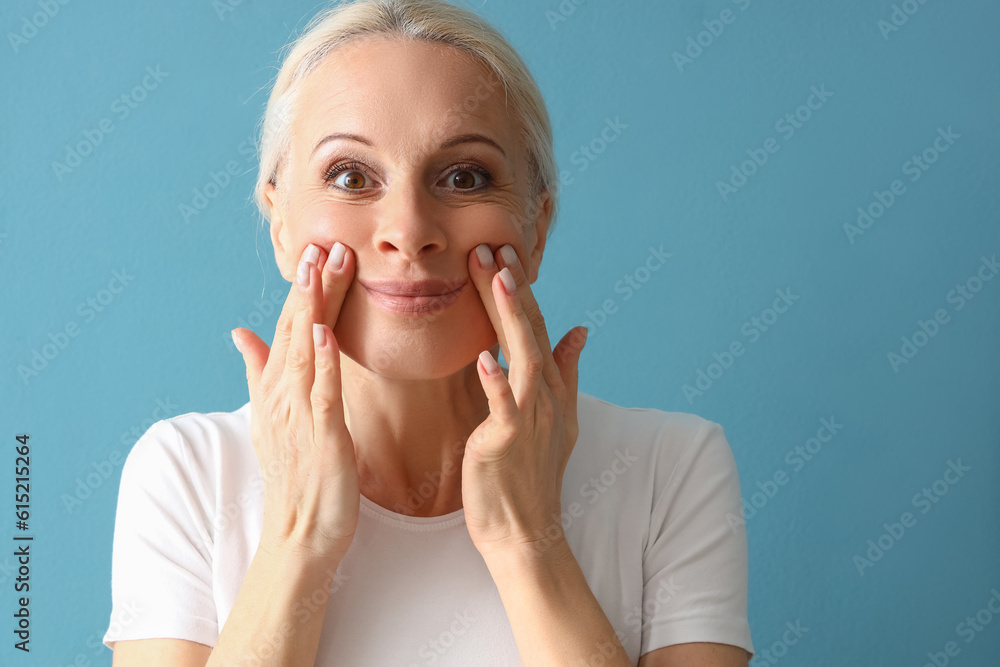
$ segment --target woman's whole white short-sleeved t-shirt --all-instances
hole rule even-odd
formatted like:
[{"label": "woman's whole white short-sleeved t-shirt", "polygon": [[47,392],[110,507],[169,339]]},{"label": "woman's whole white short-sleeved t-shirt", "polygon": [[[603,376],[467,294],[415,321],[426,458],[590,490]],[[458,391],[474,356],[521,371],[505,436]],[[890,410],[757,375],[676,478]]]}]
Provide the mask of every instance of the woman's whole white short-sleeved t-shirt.
[{"label": "woman's whole white short-sleeved t-shirt", "polygon": [[[563,530],[629,657],[686,642],[752,654],[739,477],[722,427],[582,392],[578,419]],[[104,643],[214,646],[260,542],[262,489],[249,403],[153,424],[122,469]],[[362,496],[330,579],[316,665],[519,664],[464,510],[411,517]]]}]

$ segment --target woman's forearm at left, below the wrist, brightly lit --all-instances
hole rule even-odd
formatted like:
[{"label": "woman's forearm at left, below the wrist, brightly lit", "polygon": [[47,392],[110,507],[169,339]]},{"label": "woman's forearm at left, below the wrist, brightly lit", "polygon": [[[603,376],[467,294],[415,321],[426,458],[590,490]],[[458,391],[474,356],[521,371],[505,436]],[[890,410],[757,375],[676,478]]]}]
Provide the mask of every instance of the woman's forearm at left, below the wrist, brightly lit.
[{"label": "woman's forearm at left, below the wrist, brightly lit", "polygon": [[258,549],[205,667],[312,667],[337,565]]}]

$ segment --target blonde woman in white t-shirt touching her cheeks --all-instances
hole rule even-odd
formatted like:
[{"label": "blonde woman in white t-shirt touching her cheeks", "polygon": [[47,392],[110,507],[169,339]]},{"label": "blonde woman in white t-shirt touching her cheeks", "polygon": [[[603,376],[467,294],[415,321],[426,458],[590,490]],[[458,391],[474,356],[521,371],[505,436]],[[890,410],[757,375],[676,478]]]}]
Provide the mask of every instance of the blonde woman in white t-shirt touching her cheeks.
[{"label": "blonde woman in white t-shirt touching her cheeks", "polygon": [[270,349],[233,332],[249,403],[128,457],[115,665],[747,664],[729,445],[578,393],[585,329],[552,348],[530,288],[555,188],[537,86],[474,14],[310,23],[256,191],[295,286]]}]

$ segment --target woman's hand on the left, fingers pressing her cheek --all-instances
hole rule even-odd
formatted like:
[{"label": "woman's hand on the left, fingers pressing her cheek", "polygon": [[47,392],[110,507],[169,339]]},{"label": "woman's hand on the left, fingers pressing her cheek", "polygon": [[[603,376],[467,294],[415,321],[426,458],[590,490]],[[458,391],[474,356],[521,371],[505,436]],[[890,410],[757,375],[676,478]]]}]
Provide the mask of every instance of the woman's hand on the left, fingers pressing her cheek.
[{"label": "woman's hand on the left, fingers pressing her cheek", "polygon": [[246,364],[250,437],[264,477],[260,547],[339,561],[354,539],[361,493],[331,327],[355,266],[341,243],[326,254],[313,244],[303,251],[270,349],[249,329],[234,329],[233,338]]}]

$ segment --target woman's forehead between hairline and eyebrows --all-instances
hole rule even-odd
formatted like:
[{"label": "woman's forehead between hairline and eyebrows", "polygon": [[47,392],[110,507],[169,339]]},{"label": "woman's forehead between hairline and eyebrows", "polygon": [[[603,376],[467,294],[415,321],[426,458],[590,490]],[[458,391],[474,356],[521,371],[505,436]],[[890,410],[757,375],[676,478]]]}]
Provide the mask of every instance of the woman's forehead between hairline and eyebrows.
[{"label": "woman's forehead between hairline and eyebrows", "polygon": [[293,123],[306,157],[331,132],[368,137],[400,159],[467,133],[520,155],[496,76],[471,54],[411,39],[369,37],[331,51],[303,81]]}]

